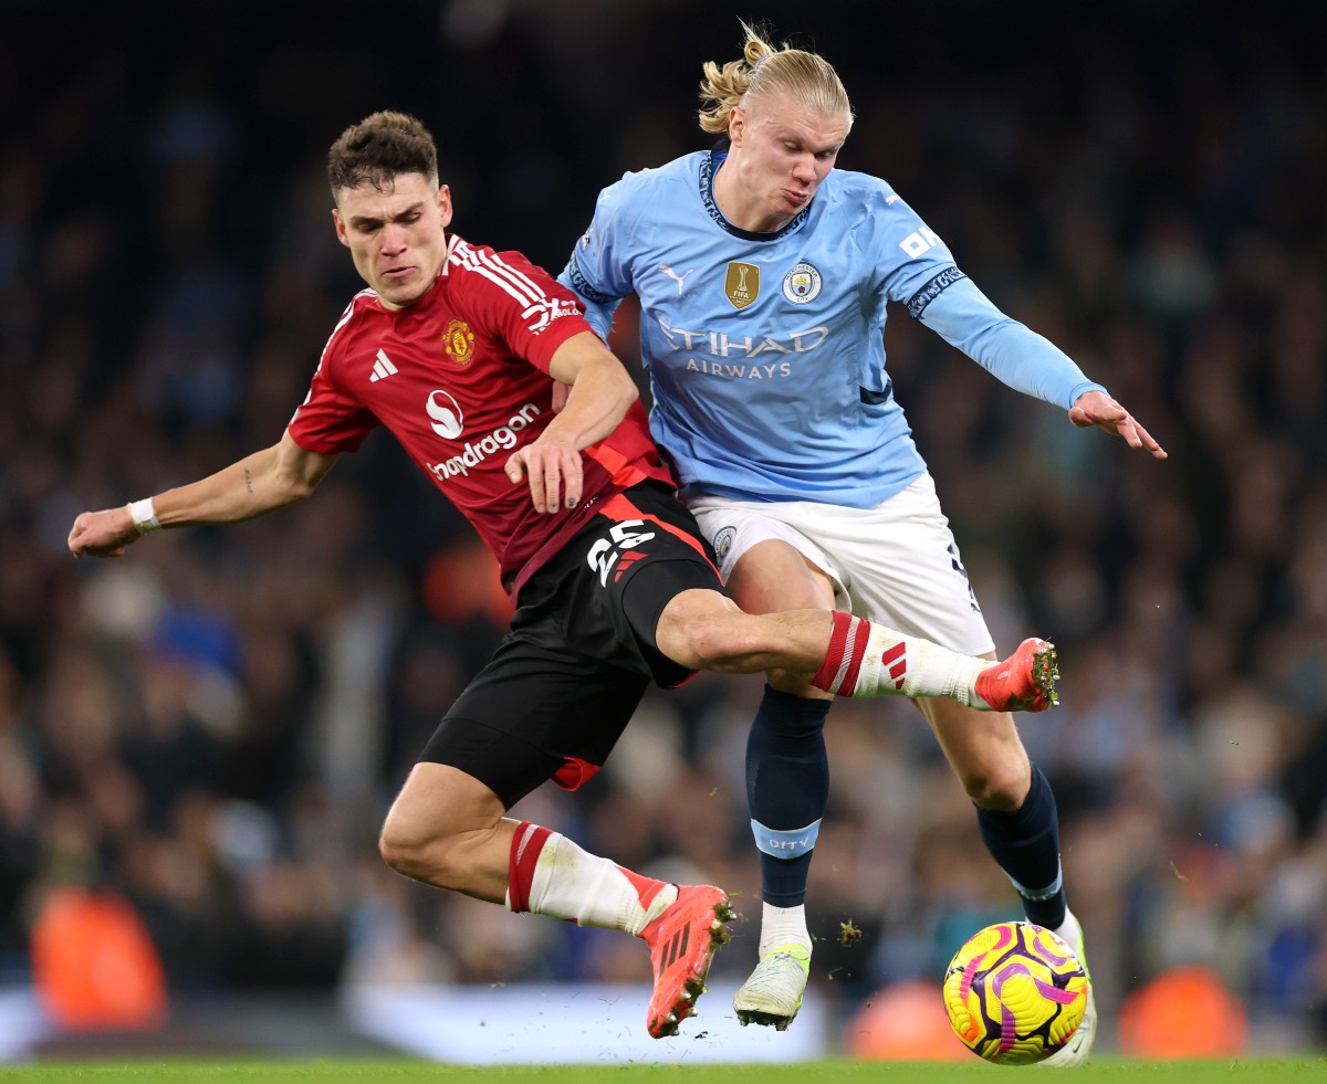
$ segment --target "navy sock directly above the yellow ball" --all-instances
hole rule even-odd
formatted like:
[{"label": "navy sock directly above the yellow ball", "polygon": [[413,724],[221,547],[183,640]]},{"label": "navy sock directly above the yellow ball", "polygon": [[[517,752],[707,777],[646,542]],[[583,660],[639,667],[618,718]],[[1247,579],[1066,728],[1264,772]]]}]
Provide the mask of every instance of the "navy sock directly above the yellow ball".
[{"label": "navy sock directly above the yellow ball", "polygon": [[1023,897],[1027,921],[1056,929],[1064,921],[1060,876],[1060,826],[1055,795],[1032,765],[1032,786],[1020,808],[993,812],[978,807],[977,823],[986,849]]}]

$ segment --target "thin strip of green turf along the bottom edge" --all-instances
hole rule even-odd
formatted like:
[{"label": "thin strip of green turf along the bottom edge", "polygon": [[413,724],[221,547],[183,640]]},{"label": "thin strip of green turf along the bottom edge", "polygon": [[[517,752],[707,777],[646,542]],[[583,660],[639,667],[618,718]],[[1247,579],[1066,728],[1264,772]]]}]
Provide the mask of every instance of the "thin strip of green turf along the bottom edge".
[{"label": "thin strip of green turf along the bottom edge", "polygon": [[[813,1061],[796,1065],[499,1065],[474,1068],[423,1061],[195,1061],[133,1060],[62,1063],[24,1068],[0,1068],[0,1081],[76,1080],[90,1084],[130,1081],[222,1081],[247,1084],[288,1084],[288,1081],[414,1081],[446,1080],[458,1084],[970,1084],[970,1081],[1015,1080],[1011,1073],[1034,1073],[1027,1084],[1042,1079],[1036,1069],[1014,1069],[971,1064],[918,1064],[897,1061]],[[1327,1059],[1223,1059],[1216,1061],[1125,1061],[1099,1059],[1071,1071],[1072,1084],[1125,1081],[1125,1084],[1299,1084],[1327,1081]]]}]

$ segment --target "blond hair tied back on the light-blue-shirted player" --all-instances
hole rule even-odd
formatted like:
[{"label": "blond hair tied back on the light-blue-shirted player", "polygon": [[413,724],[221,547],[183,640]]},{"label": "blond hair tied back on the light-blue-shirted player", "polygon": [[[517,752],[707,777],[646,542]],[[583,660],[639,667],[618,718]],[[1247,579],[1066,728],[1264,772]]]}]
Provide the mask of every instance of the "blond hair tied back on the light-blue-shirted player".
[{"label": "blond hair tied back on the light-blue-shirted player", "polygon": [[729,115],[743,99],[782,94],[807,109],[827,117],[847,115],[852,127],[852,103],[839,74],[824,57],[805,49],[794,49],[786,41],[775,49],[759,30],[742,23],[746,42],[742,60],[722,68],[705,62],[701,80],[701,127],[715,135],[729,130]]}]

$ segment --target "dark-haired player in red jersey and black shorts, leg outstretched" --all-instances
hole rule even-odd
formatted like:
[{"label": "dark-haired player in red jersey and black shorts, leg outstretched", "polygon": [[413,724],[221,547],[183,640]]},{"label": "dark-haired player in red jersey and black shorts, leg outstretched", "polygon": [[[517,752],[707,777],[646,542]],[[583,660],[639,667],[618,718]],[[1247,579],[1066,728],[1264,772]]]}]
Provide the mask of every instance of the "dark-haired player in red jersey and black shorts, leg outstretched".
[{"label": "dark-haired player in red jersey and black shorts, leg outstretched", "polygon": [[[1028,640],[989,665],[820,610],[743,614],[675,498],[634,383],[575,296],[519,253],[446,232],[451,193],[429,131],[373,114],[332,146],[328,176],[337,237],[369,289],[333,329],[280,441],[188,485],[82,513],[69,549],[117,557],[158,527],[275,512],[386,425],[491,547],[518,608],[391,806],[382,856],[512,912],[644,938],[648,1027],[675,1034],[727,937],[723,891],[642,877],[507,810],[548,779],[575,790],[592,777],[650,680],[779,668],[845,696],[1040,710],[1055,698],[1054,649]],[[553,378],[571,386],[556,416]]]}]

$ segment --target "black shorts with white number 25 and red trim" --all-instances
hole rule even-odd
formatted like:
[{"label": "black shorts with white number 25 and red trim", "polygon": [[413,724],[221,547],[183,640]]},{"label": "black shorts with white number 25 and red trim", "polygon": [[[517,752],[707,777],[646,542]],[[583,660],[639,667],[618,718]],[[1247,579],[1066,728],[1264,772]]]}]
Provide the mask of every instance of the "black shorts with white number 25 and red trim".
[{"label": "black shorts with white number 25 and red trim", "polygon": [[506,808],[553,779],[576,790],[604,765],[653,680],[694,672],[654,629],[682,591],[726,594],[691,513],[657,482],[602,498],[522,587],[511,631],[466,686],[421,761],[451,765]]}]

